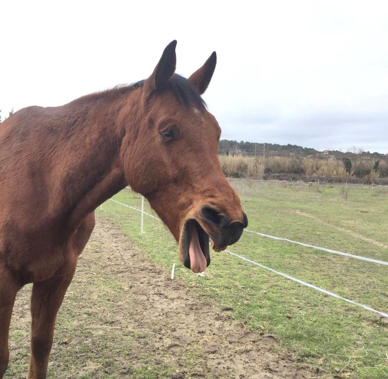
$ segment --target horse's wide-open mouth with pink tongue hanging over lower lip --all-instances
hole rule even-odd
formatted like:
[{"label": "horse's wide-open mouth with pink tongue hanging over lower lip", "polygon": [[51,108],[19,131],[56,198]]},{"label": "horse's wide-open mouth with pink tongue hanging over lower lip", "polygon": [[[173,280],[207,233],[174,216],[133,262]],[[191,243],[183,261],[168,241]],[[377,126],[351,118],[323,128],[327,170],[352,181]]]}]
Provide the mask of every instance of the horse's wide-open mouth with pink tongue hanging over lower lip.
[{"label": "horse's wide-open mouth with pink tongue hanging over lower lip", "polygon": [[193,272],[203,272],[210,265],[209,236],[193,219],[183,227],[180,248],[183,264]]}]

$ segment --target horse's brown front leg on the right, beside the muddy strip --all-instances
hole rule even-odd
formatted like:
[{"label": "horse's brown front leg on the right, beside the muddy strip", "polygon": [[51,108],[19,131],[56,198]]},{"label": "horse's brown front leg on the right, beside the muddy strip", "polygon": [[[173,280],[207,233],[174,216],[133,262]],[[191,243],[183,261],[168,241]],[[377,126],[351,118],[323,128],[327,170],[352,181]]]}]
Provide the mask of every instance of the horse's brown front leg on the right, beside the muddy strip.
[{"label": "horse's brown front leg on the right, beside the muddy strip", "polygon": [[76,263],[59,278],[34,283],[31,296],[31,358],[29,379],[45,379],[48,356],[54,336],[55,319],[66,290],[73,279]]}]

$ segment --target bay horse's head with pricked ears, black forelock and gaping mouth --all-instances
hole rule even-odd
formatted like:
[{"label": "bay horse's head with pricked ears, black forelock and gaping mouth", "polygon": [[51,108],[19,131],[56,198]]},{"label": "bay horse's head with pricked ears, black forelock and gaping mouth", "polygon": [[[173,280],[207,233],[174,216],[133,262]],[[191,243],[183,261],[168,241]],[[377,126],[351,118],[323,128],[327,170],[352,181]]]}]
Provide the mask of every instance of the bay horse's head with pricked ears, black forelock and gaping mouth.
[{"label": "bay horse's head with pricked ears, black forelock and gaping mouth", "polygon": [[122,152],[125,177],[143,194],[178,241],[194,272],[210,264],[209,237],[221,251],[247,226],[236,192],[218,160],[221,129],[201,98],[216,67],[213,52],[188,79],[175,74],[176,41],[141,83],[135,128]]}]

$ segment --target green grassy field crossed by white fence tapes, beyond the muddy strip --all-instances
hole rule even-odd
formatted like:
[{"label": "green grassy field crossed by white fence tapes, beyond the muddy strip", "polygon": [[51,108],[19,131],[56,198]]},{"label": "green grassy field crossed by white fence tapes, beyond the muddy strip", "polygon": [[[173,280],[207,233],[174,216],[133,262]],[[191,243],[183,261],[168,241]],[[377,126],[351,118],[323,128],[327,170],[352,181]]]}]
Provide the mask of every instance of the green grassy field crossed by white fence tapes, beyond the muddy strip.
[{"label": "green grassy field crossed by white fence tapes, beyond the muddy strip", "polygon": [[[231,180],[241,196],[249,229],[388,261],[388,190],[315,188]],[[140,196],[124,189],[114,197],[140,207]],[[146,211],[150,211],[146,203]],[[157,265],[184,278],[196,290],[248,327],[279,339],[319,375],[388,378],[388,323],[376,313],[318,293],[230,255],[212,253],[203,276],[177,258],[175,241],[158,221],[113,201],[108,217]],[[263,265],[353,301],[388,311],[387,266],[243,233],[230,248]]]}]

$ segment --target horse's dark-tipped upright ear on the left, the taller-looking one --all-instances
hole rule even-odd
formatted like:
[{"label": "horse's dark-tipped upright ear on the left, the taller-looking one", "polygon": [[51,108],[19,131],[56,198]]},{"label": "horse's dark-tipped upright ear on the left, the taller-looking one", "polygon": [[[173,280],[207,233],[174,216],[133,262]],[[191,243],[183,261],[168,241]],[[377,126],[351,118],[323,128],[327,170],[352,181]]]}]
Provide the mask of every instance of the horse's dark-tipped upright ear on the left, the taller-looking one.
[{"label": "horse's dark-tipped upright ear on the left, the taller-looking one", "polygon": [[176,45],[177,41],[174,39],[164,49],[154,72],[146,80],[144,85],[147,94],[150,94],[155,90],[157,91],[162,89],[174,74],[177,63],[177,57],[175,54]]}]

